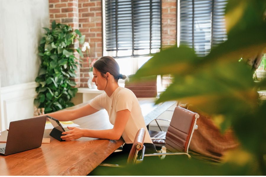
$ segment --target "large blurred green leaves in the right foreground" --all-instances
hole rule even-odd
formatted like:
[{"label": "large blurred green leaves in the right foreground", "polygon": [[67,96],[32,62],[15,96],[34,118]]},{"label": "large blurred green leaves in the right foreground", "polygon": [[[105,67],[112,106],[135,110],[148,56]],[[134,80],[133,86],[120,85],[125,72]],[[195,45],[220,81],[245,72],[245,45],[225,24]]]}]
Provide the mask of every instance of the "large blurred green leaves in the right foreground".
[{"label": "large blurred green leaves in the right foreground", "polygon": [[180,156],[160,162],[145,157],[144,163],[126,168],[126,175],[266,175],[266,101],[259,100],[256,91],[266,81],[255,83],[251,67],[238,61],[265,48],[265,8],[261,0],[228,1],[226,42],[205,57],[186,46],[161,50],[131,78],[171,74],[173,83],[156,103],[179,100],[197,106],[212,115],[221,132],[231,127],[239,148],[219,165]]}]

